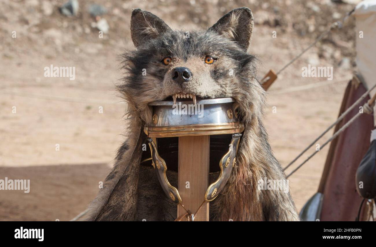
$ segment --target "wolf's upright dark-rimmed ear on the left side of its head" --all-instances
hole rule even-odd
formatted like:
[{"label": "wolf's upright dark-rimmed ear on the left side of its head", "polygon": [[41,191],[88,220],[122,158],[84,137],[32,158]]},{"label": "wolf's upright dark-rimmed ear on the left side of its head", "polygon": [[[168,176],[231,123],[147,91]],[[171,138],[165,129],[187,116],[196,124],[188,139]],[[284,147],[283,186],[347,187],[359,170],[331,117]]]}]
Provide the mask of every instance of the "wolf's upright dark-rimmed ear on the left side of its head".
[{"label": "wolf's upright dark-rimmed ear on the left side of its head", "polygon": [[150,12],[134,9],[130,18],[130,36],[135,47],[149,39],[155,39],[164,32],[171,30],[164,21]]}]

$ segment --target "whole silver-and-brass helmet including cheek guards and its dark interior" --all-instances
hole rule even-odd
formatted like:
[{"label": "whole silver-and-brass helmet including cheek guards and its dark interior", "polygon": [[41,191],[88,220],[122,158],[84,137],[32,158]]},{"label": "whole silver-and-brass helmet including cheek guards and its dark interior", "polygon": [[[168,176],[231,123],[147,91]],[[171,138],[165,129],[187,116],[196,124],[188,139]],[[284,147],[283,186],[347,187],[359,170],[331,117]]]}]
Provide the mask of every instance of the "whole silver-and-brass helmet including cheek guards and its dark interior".
[{"label": "whole silver-and-brass helmet including cheek guards and its dark interior", "polygon": [[[210,159],[209,170],[219,171],[220,174],[209,185],[205,200],[214,200],[224,188],[235,166],[240,133],[244,130],[234,103],[233,98],[201,99],[196,104],[184,99],[176,103],[149,103],[153,108],[153,123],[152,126],[144,127],[144,132],[148,135],[152,165],[158,180],[173,202],[179,204],[181,198],[177,189],[168,182],[166,171],[167,164],[170,170],[177,171],[179,136],[210,135],[209,156],[213,158]],[[217,169],[214,168],[215,164]]]}]

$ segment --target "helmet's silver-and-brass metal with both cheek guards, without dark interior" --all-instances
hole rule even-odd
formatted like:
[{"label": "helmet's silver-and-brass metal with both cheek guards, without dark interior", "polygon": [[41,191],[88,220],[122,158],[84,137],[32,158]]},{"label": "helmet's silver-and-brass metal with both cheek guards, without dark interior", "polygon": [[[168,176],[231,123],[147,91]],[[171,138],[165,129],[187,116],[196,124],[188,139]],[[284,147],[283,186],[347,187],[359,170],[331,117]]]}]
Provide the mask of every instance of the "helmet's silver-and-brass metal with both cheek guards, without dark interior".
[{"label": "helmet's silver-and-brass metal with both cheek guards, without dark interior", "polygon": [[214,200],[229,180],[233,167],[237,162],[237,151],[244,125],[238,120],[234,109],[233,98],[215,98],[198,100],[197,104],[180,101],[177,104],[169,101],[149,103],[153,107],[152,126],[144,128],[148,135],[148,144],[152,156],[152,165],[159,183],[166,196],[174,203],[181,204],[182,199],[177,188],[167,179],[167,164],[158,153],[156,139],[176,136],[224,135],[232,134],[228,150],[219,162],[218,179],[209,185],[204,200]]}]

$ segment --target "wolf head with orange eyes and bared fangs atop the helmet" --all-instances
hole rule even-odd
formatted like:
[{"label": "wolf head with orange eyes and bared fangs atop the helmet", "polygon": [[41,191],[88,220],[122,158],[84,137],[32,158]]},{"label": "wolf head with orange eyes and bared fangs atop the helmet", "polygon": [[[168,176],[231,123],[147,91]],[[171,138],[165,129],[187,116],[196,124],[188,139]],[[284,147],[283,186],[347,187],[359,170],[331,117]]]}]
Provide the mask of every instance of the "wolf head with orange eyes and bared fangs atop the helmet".
[{"label": "wolf head with orange eyes and bared fangs atop the helmet", "polygon": [[247,53],[253,29],[249,8],[224,15],[208,30],[172,30],[150,12],[135,9],[130,21],[136,50],[122,55],[125,77],[118,85],[129,110],[152,123],[149,102],[233,97],[240,119],[262,114],[264,90]]}]

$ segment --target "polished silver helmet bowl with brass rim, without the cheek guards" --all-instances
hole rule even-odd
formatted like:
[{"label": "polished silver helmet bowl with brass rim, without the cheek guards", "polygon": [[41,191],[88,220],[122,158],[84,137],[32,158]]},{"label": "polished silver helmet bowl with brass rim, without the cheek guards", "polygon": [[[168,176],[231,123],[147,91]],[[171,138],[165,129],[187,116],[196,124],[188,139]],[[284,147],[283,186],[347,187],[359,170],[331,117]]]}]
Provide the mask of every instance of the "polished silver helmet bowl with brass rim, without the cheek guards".
[{"label": "polished silver helmet bowl with brass rim, without the cheek guards", "polygon": [[221,135],[243,132],[233,98],[213,98],[192,101],[154,101],[153,126],[145,127],[150,137],[191,135]]}]

